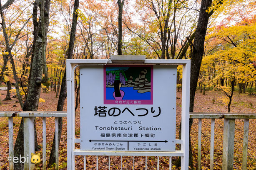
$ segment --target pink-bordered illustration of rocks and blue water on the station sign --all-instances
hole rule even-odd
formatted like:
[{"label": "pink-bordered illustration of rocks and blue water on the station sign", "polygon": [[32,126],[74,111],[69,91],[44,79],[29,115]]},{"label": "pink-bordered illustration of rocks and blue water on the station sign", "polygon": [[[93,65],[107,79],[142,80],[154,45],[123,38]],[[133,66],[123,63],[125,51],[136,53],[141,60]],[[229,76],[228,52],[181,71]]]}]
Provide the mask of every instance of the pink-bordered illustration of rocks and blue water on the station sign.
[{"label": "pink-bordered illustration of rocks and blue water on the station sign", "polygon": [[105,66],[104,104],[153,104],[153,66]]}]

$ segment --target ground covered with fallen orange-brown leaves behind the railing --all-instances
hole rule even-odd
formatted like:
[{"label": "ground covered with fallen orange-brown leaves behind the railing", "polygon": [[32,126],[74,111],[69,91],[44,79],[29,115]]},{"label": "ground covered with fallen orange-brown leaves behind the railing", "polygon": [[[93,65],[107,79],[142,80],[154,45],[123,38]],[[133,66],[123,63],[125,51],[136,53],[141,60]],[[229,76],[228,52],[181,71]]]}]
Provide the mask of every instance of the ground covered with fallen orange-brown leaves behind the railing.
[{"label": "ground covered with fallen orange-brown leaves behind the railing", "polygon": [[[5,90],[0,90],[0,94],[6,94]],[[45,102],[40,102],[38,110],[40,111],[54,111],[57,108],[58,98],[55,97],[55,92],[41,93],[41,98],[45,99]],[[1,95],[2,105],[0,105],[0,111],[21,111],[20,105],[15,98],[9,101],[3,101],[4,95]],[[195,107],[194,112],[227,112],[227,99],[223,92],[220,91],[206,91],[206,95],[196,92]],[[177,116],[176,116],[176,138],[178,139],[178,127],[181,120],[181,92],[177,92]],[[66,105],[64,106],[64,111],[66,110]],[[80,109],[76,110],[75,118],[75,135],[80,138]],[[231,104],[231,112],[237,113],[255,113],[256,112],[256,96],[245,94],[234,93],[233,101]],[[19,117],[14,117],[14,141],[17,137],[20,120]],[[234,169],[241,169],[242,164],[242,148],[243,148],[243,119],[236,119],[236,129],[235,129],[235,146],[234,146]],[[42,146],[42,118],[36,118],[36,129],[38,134],[38,144]],[[256,168],[256,120],[250,119],[249,122],[249,134],[248,134],[248,158],[247,158],[247,168]],[[67,126],[66,118],[63,119],[63,131],[60,140],[59,148],[59,168],[66,169],[67,161]],[[55,131],[55,119],[47,118],[46,126],[46,138],[47,138],[47,160],[50,157],[50,150],[52,146],[52,141]],[[211,138],[211,120],[202,119],[202,169],[210,168],[210,138]],[[216,119],[215,121],[215,141],[214,141],[214,169],[221,169],[222,165],[222,144],[223,144],[223,119]],[[197,167],[197,154],[198,154],[198,119],[194,119],[193,126],[191,130],[191,144],[193,151],[193,168]],[[178,147],[178,145],[177,145]],[[80,148],[79,144],[76,144],[76,148]],[[42,155],[42,148],[39,152]],[[3,169],[9,168],[9,163],[7,160],[8,151],[8,118],[0,117],[0,167]],[[42,158],[42,156],[41,156]],[[84,158],[83,156],[75,157],[76,169],[83,169]],[[147,169],[153,170],[157,169],[157,157],[146,157],[138,156],[133,159],[129,156],[99,156],[99,169],[108,169],[108,161],[110,159],[110,169],[119,170],[131,170],[131,169]],[[178,169],[174,163],[177,157],[172,157],[173,169]],[[88,169],[96,169],[96,156],[86,156],[86,167]],[[159,158],[159,169],[169,168],[169,157]],[[122,162],[122,164],[121,164]],[[133,165],[134,162],[134,165]],[[146,165],[147,163],[147,165]],[[37,164],[37,169],[42,168],[42,163]],[[54,167],[52,167],[54,168]],[[54,168],[55,169],[55,168]]]}]

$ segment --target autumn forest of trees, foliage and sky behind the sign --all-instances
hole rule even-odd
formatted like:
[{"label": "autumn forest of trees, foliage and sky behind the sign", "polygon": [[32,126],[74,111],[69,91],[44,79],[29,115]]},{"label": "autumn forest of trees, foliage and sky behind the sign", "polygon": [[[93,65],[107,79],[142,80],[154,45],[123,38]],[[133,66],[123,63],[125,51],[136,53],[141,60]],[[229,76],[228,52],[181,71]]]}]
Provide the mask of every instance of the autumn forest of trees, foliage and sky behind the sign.
[{"label": "autumn forest of trees, foliage and sky behind the sign", "polygon": [[[56,108],[63,110],[67,58],[140,54],[147,59],[192,59],[192,69],[197,70],[191,74],[192,93],[196,87],[203,93],[220,90],[224,95],[211,102],[221,101],[226,112],[232,112],[236,90],[249,95],[256,91],[255,11],[253,0],[1,1],[0,83],[8,90],[1,91],[0,99],[8,101],[15,96],[21,109],[37,110],[38,103],[48,100],[40,98],[41,90],[55,91],[59,97]],[[182,69],[177,70],[180,90]],[[76,109],[79,89],[76,70]],[[193,112],[193,104],[191,107]],[[17,136],[16,143],[22,143],[23,131]],[[16,154],[23,151],[15,147]],[[49,165],[53,160],[51,154]]]}]

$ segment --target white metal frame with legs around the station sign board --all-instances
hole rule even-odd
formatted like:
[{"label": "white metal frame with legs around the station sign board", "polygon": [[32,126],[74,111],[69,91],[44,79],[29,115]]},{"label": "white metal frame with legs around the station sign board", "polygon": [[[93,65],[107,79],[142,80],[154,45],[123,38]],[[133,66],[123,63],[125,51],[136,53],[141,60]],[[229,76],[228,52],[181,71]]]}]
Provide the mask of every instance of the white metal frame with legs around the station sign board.
[{"label": "white metal frame with legs around the station sign board", "polygon": [[[190,60],[151,60],[146,59],[143,65],[183,65],[182,102],[181,102],[181,140],[176,139],[176,144],[181,144],[181,151],[174,152],[149,152],[149,151],[81,151],[75,149],[75,143],[80,143],[80,138],[75,138],[75,85],[74,71],[78,66],[105,66],[115,64],[106,59],[68,59],[67,68],[67,168],[75,169],[75,155],[124,155],[124,156],[181,156],[181,169],[188,169],[189,146],[189,96],[190,96]],[[138,64],[136,61],[118,63],[117,65]]]}]

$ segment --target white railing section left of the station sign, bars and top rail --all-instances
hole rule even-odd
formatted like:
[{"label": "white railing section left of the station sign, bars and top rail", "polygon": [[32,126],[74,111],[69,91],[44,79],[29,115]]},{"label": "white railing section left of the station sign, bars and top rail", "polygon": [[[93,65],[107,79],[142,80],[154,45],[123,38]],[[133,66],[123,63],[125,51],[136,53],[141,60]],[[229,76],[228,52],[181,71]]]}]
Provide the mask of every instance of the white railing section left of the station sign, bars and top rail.
[{"label": "white railing section left of the station sign, bars and top rail", "polygon": [[[24,156],[31,158],[31,153],[35,153],[35,138],[34,138],[34,119],[35,117],[43,117],[43,170],[46,170],[46,117],[55,117],[55,134],[58,134],[58,121],[59,117],[66,117],[66,112],[41,112],[41,111],[24,111],[24,112],[12,112],[12,111],[0,111],[0,117],[8,117],[8,132],[9,132],[9,157],[14,157],[13,152],[13,117],[24,118]],[[55,136],[55,151],[56,160],[55,167],[58,169],[59,165],[59,146],[58,135]],[[9,161],[10,170],[14,169],[13,159]],[[34,164],[26,161],[24,163],[24,169],[33,169]],[[0,162],[1,169],[1,162]]]}]

